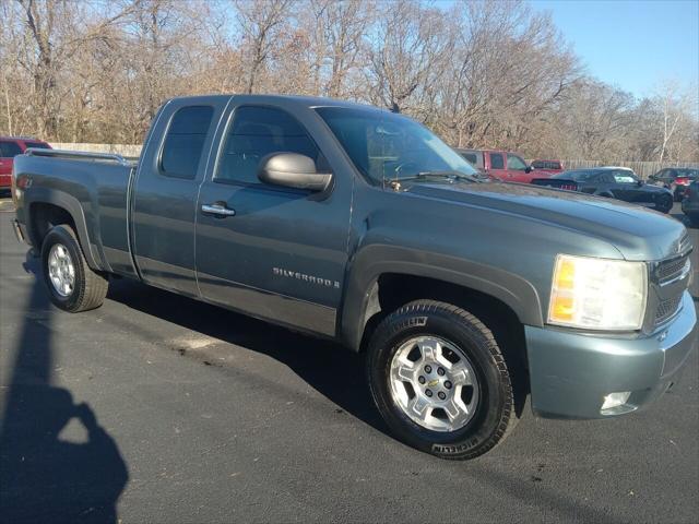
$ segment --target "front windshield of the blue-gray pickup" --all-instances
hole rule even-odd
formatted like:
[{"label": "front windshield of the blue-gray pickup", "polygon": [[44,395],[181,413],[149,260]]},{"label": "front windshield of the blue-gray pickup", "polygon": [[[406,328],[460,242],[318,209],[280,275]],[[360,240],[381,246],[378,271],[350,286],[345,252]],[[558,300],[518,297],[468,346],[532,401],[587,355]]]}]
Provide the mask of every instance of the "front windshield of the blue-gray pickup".
[{"label": "front windshield of the blue-gray pickup", "polygon": [[419,180],[427,174],[477,175],[461,155],[410,118],[378,109],[320,107],[316,111],[355,167],[376,183]]}]

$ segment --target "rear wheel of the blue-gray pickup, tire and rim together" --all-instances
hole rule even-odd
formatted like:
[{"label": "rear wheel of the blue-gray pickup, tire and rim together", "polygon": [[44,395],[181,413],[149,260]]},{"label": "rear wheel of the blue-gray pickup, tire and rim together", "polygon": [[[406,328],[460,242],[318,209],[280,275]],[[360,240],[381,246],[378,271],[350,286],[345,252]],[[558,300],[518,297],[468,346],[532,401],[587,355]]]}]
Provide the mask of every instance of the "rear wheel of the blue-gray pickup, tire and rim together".
[{"label": "rear wheel of the blue-gray pickup, tire and rim together", "polygon": [[52,227],[42,245],[44,282],[51,302],[70,312],[102,306],[109,282],[87,265],[70,226]]}]

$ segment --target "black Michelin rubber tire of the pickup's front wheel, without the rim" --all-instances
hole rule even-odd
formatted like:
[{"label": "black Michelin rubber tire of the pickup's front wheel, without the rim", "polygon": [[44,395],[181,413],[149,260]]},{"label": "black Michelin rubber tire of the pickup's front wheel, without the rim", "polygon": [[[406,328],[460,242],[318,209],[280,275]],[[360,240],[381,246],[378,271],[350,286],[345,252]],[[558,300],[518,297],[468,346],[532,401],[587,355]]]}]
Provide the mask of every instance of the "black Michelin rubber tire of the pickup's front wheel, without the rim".
[{"label": "black Michelin rubber tire of the pickup's front wheel, without the rim", "polygon": [[[422,335],[455,344],[476,373],[479,400],[475,415],[454,431],[435,431],[416,424],[391,394],[393,356],[404,342]],[[371,335],[367,374],[374,401],[394,434],[441,458],[482,455],[501,442],[518,421],[510,371],[493,333],[476,317],[449,303],[416,300],[387,317]]]}]

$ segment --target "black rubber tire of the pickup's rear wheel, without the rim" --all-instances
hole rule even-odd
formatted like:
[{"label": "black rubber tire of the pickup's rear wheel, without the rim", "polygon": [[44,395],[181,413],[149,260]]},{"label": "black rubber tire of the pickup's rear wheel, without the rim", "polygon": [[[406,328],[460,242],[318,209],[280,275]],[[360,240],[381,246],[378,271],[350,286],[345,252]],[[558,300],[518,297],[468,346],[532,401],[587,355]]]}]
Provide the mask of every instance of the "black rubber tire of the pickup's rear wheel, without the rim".
[{"label": "black rubber tire of the pickup's rear wheel, without the rim", "polygon": [[[66,247],[74,267],[74,286],[72,293],[68,296],[61,296],[51,284],[49,277],[49,253],[57,243]],[[64,311],[76,313],[98,308],[107,296],[109,281],[104,274],[93,271],[87,265],[78,237],[70,226],[54,226],[44,237],[44,242],[42,243],[42,270],[51,302]]]}]

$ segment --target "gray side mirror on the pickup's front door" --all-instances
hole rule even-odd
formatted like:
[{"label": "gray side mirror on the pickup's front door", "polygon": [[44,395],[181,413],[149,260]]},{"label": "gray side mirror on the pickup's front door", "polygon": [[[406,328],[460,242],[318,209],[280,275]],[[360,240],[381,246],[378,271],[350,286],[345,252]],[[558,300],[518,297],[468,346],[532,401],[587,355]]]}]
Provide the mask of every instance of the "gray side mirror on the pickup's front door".
[{"label": "gray side mirror on the pickup's front door", "polygon": [[318,172],[316,163],[308,156],[298,153],[272,153],[260,160],[258,178],[264,183],[323,191],[330,186],[332,174]]}]

